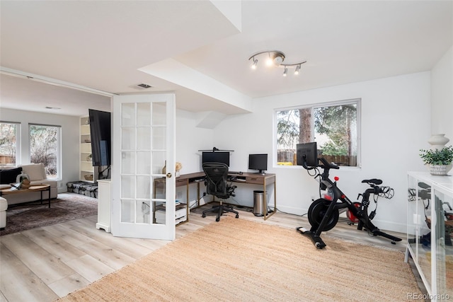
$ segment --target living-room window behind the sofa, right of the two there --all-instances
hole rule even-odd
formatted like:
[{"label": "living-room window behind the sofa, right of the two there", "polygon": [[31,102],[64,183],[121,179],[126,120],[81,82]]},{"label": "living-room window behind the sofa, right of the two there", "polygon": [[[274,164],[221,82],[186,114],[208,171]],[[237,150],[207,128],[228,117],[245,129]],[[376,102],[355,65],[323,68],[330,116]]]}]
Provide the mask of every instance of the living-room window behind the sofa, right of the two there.
[{"label": "living-room window behind the sofa, right of the two there", "polygon": [[30,163],[43,163],[48,178],[61,178],[61,127],[29,124]]}]

